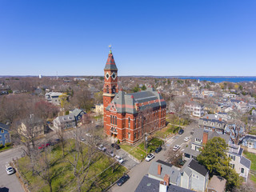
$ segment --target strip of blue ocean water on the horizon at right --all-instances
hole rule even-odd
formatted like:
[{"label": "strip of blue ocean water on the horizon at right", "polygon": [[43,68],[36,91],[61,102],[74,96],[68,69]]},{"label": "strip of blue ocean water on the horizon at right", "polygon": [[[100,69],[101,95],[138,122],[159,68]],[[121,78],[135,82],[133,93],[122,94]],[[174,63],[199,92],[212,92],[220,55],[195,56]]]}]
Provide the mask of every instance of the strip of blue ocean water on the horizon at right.
[{"label": "strip of blue ocean water on the horizon at right", "polygon": [[202,81],[209,81],[209,82],[253,82],[256,81],[256,77],[178,77],[182,79],[199,79],[200,82]]}]

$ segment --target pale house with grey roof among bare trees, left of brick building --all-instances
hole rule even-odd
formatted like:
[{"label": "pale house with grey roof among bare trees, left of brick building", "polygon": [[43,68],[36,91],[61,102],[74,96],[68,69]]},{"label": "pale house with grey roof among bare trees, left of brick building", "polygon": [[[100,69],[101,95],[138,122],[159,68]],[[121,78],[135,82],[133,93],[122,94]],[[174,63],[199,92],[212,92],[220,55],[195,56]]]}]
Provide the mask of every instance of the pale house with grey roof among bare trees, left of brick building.
[{"label": "pale house with grey roof among bare trees, left of brick building", "polygon": [[67,130],[74,128],[76,126],[77,123],[73,114],[68,114],[64,116],[59,116],[58,118],[54,118],[54,127],[58,128],[58,130]]}]

